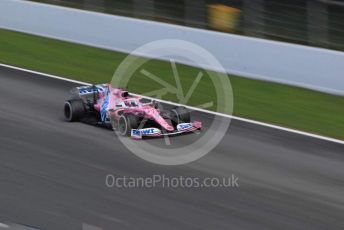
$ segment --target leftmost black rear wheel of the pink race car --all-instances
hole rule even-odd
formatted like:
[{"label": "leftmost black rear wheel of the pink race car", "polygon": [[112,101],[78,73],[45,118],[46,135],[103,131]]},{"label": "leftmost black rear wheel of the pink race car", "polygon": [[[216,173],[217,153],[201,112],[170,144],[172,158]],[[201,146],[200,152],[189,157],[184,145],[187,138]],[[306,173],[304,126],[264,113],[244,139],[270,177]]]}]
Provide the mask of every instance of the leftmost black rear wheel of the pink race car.
[{"label": "leftmost black rear wheel of the pink race car", "polygon": [[67,121],[79,121],[85,115],[85,106],[81,99],[68,100],[64,105],[64,115]]}]

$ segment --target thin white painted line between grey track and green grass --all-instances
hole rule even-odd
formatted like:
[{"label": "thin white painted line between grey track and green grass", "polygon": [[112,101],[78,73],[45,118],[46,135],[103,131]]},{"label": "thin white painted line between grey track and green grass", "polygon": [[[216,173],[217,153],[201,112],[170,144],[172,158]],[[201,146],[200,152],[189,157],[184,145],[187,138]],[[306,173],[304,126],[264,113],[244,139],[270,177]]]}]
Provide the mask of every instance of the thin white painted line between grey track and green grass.
[{"label": "thin white painted line between grey track and green grass", "polygon": [[[72,79],[68,79],[68,78],[64,78],[64,77],[59,77],[59,76],[52,75],[52,74],[46,74],[46,73],[42,73],[42,72],[38,72],[38,71],[33,71],[33,70],[25,69],[25,68],[20,68],[20,67],[16,67],[16,66],[12,66],[12,65],[6,65],[6,64],[0,63],[0,66],[10,68],[10,69],[20,70],[20,71],[27,72],[27,73],[33,73],[33,74],[40,75],[40,76],[50,77],[50,78],[54,78],[54,79],[58,79],[58,80],[73,82],[73,83],[77,83],[77,84],[81,84],[81,85],[91,85],[90,83],[87,83],[87,82],[76,81],[76,80],[72,80]],[[146,98],[154,99],[156,101],[164,102],[166,104],[171,104],[171,105],[176,105],[176,106],[181,105],[181,104],[171,102],[171,101],[164,101],[164,100],[155,99],[155,98],[151,98],[151,97],[146,97]],[[183,105],[183,106],[185,106],[185,105]],[[339,139],[335,139],[335,138],[331,138],[331,137],[325,137],[325,136],[321,136],[321,135],[317,135],[317,134],[313,134],[313,133],[307,133],[307,132],[296,130],[296,129],[285,128],[285,127],[278,126],[278,125],[267,124],[267,123],[260,122],[260,121],[250,120],[250,119],[237,117],[237,116],[233,116],[233,115],[227,115],[227,114],[218,113],[218,112],[213,112],[213,111],[200,109],[200,108],[196,108],[196,107],[192,107],[192,106],[185,106],[185,107],[187,107],[188,109],[203,112],[203,113],[209,113],[209,114],[213,114],[213,115],[217,115],[217,116],[221,116],[221,117],[227,117],[227,118],[231,118],[234,120],[239,120],[239,121],[243,121],[243,122],[247,122],[247,123],[251,123],[251,124],[255,124],[255,125],[265,126],[265,127],[269,127],[269,128],[273,128],[273,129],[278,129],[278,130],[282,130],[282,131],[286,131],[286,132],[290,132],[290,133],[300,134],[300,135],[304,135],[304,136],[308,136],[308,137],[312,137],[312,138],[321,139],[324,141],[330,141],[330,142],[344,145],[344,141],[339,140]]]}]

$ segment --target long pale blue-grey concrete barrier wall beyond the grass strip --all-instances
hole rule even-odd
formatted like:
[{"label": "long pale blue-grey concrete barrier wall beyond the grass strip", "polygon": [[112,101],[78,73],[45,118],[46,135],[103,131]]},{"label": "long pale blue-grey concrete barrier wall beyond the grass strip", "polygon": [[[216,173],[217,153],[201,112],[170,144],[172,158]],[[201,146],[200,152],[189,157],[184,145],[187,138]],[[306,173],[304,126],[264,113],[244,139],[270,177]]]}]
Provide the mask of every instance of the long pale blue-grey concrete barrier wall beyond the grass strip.
[{"label": "long pale blue-grey concrete barrier wall beyond the grass strip", "polygon": [[0,1],[0,28],[123,52],[182,39],[208,50],[228,73],[344,95],[343,52],[22,0]]}]

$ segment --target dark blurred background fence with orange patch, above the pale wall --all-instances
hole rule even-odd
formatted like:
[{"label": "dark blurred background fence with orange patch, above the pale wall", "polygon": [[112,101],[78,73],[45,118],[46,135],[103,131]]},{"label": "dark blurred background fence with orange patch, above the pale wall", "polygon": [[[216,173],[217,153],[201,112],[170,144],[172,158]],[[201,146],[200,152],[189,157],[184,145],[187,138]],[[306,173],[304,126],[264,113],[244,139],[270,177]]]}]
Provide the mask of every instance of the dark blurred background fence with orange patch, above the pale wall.
[{"label": "dark blurred background fence with orange patch, above the pale wall", "polygon": [[33,0],[344,50],[343,0]]}]

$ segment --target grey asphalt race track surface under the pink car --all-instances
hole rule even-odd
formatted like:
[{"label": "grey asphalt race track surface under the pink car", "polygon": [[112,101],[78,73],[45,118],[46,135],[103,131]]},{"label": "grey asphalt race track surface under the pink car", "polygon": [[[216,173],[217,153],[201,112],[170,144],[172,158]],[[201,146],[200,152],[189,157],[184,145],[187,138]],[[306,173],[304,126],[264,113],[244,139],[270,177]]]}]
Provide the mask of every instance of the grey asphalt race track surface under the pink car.
[{"label": "grey asphalt race track surface under the pink car", "polygon": [[[0,222],[56,230],[344,229],[344,145],[232,121],[205,157],[160,166],[133,155],[110,130],[65,122],[74,85],[0,67]],[[234,174],[239,187],[108,188],[107,174]]]}]

